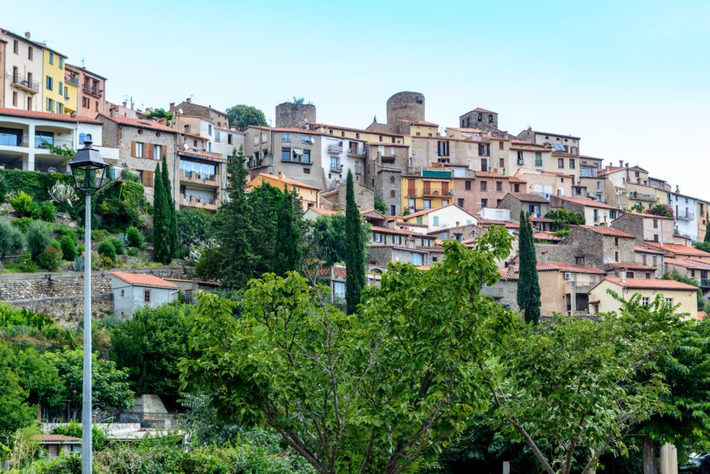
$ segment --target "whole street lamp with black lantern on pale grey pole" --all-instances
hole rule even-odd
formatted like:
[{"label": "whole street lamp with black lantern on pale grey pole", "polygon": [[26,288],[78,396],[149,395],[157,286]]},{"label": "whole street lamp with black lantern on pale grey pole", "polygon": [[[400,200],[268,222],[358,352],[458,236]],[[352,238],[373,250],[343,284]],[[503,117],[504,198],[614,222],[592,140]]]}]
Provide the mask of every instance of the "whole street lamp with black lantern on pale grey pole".
[{"label": "whole street lamp with black lantern on pale grey pole", "polygon": [[92,453],[92,350],[91,350],[91,197],[104,184],[107,164],[91,141],[84,141],[69,163],[74,187],[86,198],[84,217],[84,384],[82,389],[82,474],[91,474]]}]

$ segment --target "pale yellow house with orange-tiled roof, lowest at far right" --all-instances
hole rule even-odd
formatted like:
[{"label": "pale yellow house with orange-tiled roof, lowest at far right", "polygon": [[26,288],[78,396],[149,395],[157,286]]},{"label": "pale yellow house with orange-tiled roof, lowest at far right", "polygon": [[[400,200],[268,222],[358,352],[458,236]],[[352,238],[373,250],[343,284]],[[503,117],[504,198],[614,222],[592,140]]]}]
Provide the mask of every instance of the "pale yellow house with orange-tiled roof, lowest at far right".
[{"label": "pale yellow house with orange-tiled roof, lowest at far right", "polygon": [[643,304],[650,304],[658,295],[672,305],[679,305],[677,313],[687,313],[696,318],[698,313],[697,286],[675,280],[655,280],[643,278],[606,277],[589,290],[589,312],[591,314],[619,311],[621,302],[616,301],[606,291],[611,289],[624,300],[638,293]]}]

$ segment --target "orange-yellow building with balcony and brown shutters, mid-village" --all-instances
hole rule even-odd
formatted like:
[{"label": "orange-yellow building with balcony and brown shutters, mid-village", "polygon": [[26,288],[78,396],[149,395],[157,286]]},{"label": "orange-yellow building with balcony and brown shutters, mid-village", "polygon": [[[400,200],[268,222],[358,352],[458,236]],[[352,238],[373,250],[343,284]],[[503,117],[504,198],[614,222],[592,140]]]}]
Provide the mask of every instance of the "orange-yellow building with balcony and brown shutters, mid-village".
[{"label": "orange-yellow building with balcony and brown shutters, mid-village", "polygon": [[420,175],[404,175],[401,189],[402,209],[410,213],[454,202],[452,171],[448,168],[425,168]]}]

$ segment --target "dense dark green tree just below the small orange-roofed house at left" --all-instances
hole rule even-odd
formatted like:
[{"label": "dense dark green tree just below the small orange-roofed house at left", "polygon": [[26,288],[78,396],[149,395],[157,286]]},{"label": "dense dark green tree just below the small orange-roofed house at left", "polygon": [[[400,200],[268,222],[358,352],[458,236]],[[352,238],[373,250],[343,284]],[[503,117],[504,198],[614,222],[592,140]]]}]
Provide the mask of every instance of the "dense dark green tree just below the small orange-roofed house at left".
[{"label": "dense dark green tree just below the small orange-roofed house at left", "polygon": [[129,377],[136,394],[178,397],[178,360],[187,355],[187,314],[192,306],[145,306],[111,331],[109,357]]}]

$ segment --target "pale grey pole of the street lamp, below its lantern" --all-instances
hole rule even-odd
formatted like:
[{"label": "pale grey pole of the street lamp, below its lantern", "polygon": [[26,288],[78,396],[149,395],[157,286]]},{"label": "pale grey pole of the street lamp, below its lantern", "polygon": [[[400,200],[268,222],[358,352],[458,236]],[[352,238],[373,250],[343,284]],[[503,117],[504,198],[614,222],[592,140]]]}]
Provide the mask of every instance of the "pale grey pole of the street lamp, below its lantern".
[{"label": "pale grey pole of the street lamp, below its lantern", "polygon": [[84,217],[84,384],[82,388],[82,474],[92,474],[92,360],[91,360],[91,194]]}]

